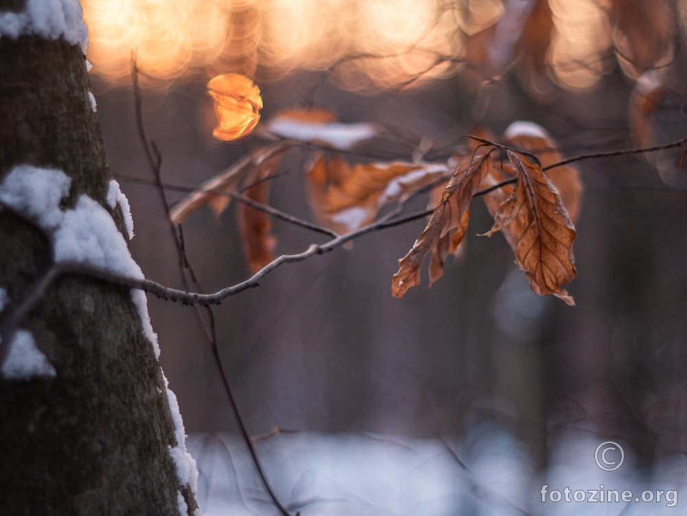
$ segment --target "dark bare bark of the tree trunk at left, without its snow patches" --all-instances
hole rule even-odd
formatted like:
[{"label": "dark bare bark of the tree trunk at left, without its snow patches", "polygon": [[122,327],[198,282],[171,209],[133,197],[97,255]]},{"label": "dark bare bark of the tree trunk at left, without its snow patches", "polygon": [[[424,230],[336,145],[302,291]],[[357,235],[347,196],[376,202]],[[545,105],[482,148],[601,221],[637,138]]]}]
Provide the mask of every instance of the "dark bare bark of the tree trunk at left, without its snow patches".
[{"label": "dark bare bark of the tree trunk at left, without its snow patches", "polygon": [[[0,0],[0,14],[19,4]],[[20,164],[71,177],[64,207],[87,194],[112,211],[85,56],[63,38],[0,38],[0,182]],[[118,207],[114,216],[126,235]],[[51,260],[38,229],[0,211],[0,287],[9,301],[0,324]],[[168,450],[177,442],[164,379],[131,292],[63,276],[21,328],[56,377],[0,378],[0,514],[174,515],[179,491],[193,514]]]}]

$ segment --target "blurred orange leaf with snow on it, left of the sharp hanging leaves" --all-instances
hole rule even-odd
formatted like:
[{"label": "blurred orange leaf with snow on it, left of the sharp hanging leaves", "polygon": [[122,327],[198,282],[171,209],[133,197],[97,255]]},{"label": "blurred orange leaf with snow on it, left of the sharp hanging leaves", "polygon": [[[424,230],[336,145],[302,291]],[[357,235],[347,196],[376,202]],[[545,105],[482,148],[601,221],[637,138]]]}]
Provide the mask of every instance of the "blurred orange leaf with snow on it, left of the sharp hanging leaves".
[{"label": "blurred orange leaf with snow on it, left of the sharp hanging leaves", "polygon": [[339,234],[370,224],[379,210],[446,177],[445,163],[357,164],[318,153],[306,166],[308,201],[317,220]]}]

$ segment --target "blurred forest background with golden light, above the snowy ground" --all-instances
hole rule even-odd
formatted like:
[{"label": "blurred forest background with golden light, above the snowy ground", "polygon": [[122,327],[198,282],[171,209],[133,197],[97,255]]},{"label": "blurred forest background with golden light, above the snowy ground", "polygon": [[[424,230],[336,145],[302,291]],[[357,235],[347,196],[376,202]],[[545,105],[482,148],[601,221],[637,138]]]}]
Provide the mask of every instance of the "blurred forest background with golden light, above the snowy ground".
[{"label": "blurred forest background with golden light, above the snowy ground", "polygon": [[[687,136],[683,0],[82,0],[91,89],[111,168],[133,212],[146,276],[181,287],[178,260],[135,130],[131,54],[165,183],[189,190],[261,143],[212,137],[205,85],[236,72],[262,120],[324,106],[385,137],[360,161],[446,159],[480,124],[541,124],[565,157]],[[473,204],[464,262],[431,288],[390,294],[424,220],[374,232],[215,309],[222,359],[249,433],[273,427],[460,440],[500,425],[545,467],[570,436],[627,445],[638,464],[687,452],[687,170],[682,148],[580,161],[577,306],[541,298]],[[292,152],[272,205],[311,218]],[[170,188],[172,201],[188,192]],[[414,207],[422,209],[426,200]],[[275,221],[278,254],[322,236]],[[183,225],[206,292],[249,276],[234,210]],[[450,260],[449,260],[450,261]],[[193,309],[150,298],[161,363],[186,430],[236,431]],[[601,442],[601,441],[599,441]],[[590,452],[591,453],[591,452]]]}]

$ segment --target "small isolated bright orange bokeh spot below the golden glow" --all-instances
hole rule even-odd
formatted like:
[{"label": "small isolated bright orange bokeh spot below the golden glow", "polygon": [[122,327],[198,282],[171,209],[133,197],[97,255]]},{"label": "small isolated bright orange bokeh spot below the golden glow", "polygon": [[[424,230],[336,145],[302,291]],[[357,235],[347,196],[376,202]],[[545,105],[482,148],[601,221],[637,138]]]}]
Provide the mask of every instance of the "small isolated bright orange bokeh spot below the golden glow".
[{"label": "small isolated bright orange bokeh spot below the golden glow", "polygon": [[230,141],[249,135],[260,120],[262,98],[253,81],[239,74],[216,76],[207,83],[217,126],[212,135]]}]

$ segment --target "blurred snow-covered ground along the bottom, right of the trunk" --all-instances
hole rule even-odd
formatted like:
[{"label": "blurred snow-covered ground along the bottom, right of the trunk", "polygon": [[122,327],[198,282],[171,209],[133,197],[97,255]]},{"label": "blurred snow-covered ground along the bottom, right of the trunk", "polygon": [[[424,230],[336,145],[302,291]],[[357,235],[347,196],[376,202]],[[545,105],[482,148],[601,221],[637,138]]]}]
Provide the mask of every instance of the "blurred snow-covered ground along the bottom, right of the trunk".
[{"label": "blurred snow-covered ground along the bottom, right of the trunk", "polygon": [[[595,460],[602,442],[561,442],[544,473],[534,469],[517,440],[491,427],[477,429],[462,444],[299,432],[258,440],[256,449],[277,496],[294,515],[684,514],[678,495],[687,492],[687,459],[644,471],[635,467],[625,446],[620,467],[604,471]],[[198,462],[203,511],[212,516],[279,514],[240,439],[197,435],[188,440],[188,448]],[[602,465],[604,460],[617,464],[617,452],[604,456],[601,449],[596,457]]]}]

